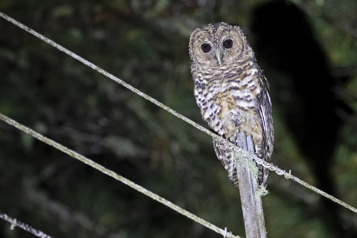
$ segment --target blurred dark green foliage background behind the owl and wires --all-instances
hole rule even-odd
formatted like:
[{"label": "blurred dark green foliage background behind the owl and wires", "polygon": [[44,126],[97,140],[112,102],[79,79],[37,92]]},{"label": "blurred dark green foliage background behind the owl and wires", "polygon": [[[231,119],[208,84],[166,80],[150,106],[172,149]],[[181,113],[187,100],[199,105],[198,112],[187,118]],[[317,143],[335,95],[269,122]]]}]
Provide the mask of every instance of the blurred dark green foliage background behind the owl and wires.
[{"label": "blurred dark green foliage background behind the owl and wires", "polygon": [[[206,126],[188,40],[239,25],[270,81],[272,162],[357,207],[357,2],[0,1],[0,11]],[[245,236],[211,138],[0,19],[0,112]],[[0,122],[0,211],[52,237],[221,237]],[[268,237],[357,237],[357,216],[275,173]],[[34,237],[10,231],[0,237]]]}]

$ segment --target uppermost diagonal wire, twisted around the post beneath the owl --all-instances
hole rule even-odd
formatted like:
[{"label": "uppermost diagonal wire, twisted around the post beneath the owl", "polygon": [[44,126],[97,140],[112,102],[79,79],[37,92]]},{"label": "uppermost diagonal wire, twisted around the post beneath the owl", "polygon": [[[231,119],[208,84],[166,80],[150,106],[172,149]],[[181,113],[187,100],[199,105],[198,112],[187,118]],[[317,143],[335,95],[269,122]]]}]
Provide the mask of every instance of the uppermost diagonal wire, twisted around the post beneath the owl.
[{"label": "uppermost diagonal wire, twisted around the post beneath the owl", "polygon": [[[149,95],[146,95],[145,93],[143,93],[143,92],[137,90],[135,87],[133,87],[133,86],[129,85],[128,83],[126,83],[126,82],[120,80],[119,78],[115,77],[114,75],[109,74],[107,71],[105,71],[105,70],[101,69],[100,67],[98,67],[98,66],[92,64],[91,62],[89,62],[89,61],[83,59],[82,57],[80,57],[80,56],[74,54],[72,51],[67,50],[67,49],[64,48],[63,46],[61,46],[61,45],[55,43],[54,41],[48,39],[48,38],[45,37],[45,36],[43,36],[43,35],[37,33],[36,31],[34,31],[34,30],[32,30],[31,28],[29,28],[29,27],[27,27],[27,26],[21,24],[20,22],[16,21],[15,19],[13,19],[13,18],[11,18],[11,17],[5,15],[5,14],[2,13],[2,12],[0,12],[0,16],[1,16],[2,18],[6,19],[7,21],[10,21],[11,23],[15,24],[16,26],[20,27],[21,29],[24,29],[25,31],[31,33],[32,35],[34,35],[34,36],[40,38],[41,40],[43,40],[43,41],[45,41],[45,42],[47,42],[48,44],[52,45],[52,46],[55,47],[56,49],[59,49],[60,51],[65,52],[67,55],[73,57],[74,59],[79,60],[79,61],[82,62],[83,64],[85,64],[85,65],[91,67],[92,69],[94,69],[94,70],[100,72],[101,74],[103,74],[103,75],[109,77],[111,80],[114,80],[115,82],[120,83],[120,84],[123,85],[124,87],[126,87],[126,88],[130,89],[131,91],[137,93],[138,95],[144,97],[146,100],[149,100],[150,102],[154,103],[155,105],[157,105],[157,106],[163,108],[164,110],[170,112],[172,115],[175,115],[176,117],[180,118],[181,120],[183,120],[183,121],[189,123],[190,125],[196,127],[198,130],[201,130],[201,131],[207,133],[208,135],[210,135],[210,136],[213,138],[213,140],[216,140],[216,141],[222,140],[221,137],[219,137],[219,136],[217,136],[215,133],[213,133],[213,132],[207,130],[205,127],[202,127],[201,125],[198,125],[196,122],[193,122],[192,120],[188,119],[187,117],[185,117],[185,116],[181,115],[180,113],[178,113],[178,112],[172,110],[170,107],[165,106],[164,104],[162,104],[161,102],[155,100],[154,98],[150,97]],[[232,144],[232,143],[230,143],[229,141],[225,141],[224,143],[226,143],[226,145]],[[237,146],[236,146],[235,148],[236,148],[236,149],[239,149],[239,147],[237,147]],[[240,148],[240,149],[241,149],[241,148]],[[241,150],[241,152],[242,152],[242,153],[246,153],[246,151],[244,151],[244,150]],[[314,187],[314,186],[312,186],[312,185],[310,185],[310,184],[308,184],[308,183],[302,181],[301,179],[299,179],[299,178],[297,178],[297,177],[295,177],[295,176],[292,176],[291,173],[287,173],[285,170],[282,170],[282,169],[278,168],[277,166],[273,166],[273,164],[270,164],[270,163],[268,163],[268,162],[266,162],[266,161],[263,161],[261,158],[259,158],[259,157],[257,157],[257,156],[252,157],[252,159],[254,159],[254,160],[257,161],[257,162],[262,163],[262,165],[263,165],[264,167],[267,167],[267,168],[269,168],[270,170],[275,171],[278,175],[284,175],[285,178],[291,178],[293,181],[298,182],[298,183],[300,183],[301,185],[303,185],[303,186],[305,186],[305,187],[311,189],[312,191],[314,191],[314,192],[316,192],[316,193],[318,193],[318,194],[320,194],[320,195],[322,195],[322,196],[324,196],[324,197],[326,197],[326,198],[328,198],[328,199],[330,199],[330,200],[332,200],[332,201],[334,201],[334,202],[337,202],[338,204],[342,205],[343,207],[346,207],[347,209],[350,209],[351,211],[357,213],[357,209],[356,209],[356,208],[354,208],[354,207],[348,205],[347,203],[342,202],[340,199],[337,199],[337,198],[331,196],[330,194],[325,193],[325,192],[321,191],[320,189],[318,189],[318,188],[316,188],[316,187]]]}]

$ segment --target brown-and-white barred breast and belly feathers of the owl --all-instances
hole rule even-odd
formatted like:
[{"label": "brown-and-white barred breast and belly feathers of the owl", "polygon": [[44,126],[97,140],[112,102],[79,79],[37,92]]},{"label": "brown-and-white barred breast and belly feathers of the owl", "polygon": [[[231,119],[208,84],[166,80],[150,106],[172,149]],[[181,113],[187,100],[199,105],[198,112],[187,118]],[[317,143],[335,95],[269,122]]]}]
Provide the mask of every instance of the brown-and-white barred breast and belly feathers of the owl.
[{"label": "brown-and-white barred breast and belly feathers of the owl", "polygon": [[227,138],[235,136],[236,125],[241,123],[241,130],[261,141],[260,118],[256,112],[262,78],[259,66],[243,61],[201,72],[197,72],[194,80],[196,103],[203,120]]}]

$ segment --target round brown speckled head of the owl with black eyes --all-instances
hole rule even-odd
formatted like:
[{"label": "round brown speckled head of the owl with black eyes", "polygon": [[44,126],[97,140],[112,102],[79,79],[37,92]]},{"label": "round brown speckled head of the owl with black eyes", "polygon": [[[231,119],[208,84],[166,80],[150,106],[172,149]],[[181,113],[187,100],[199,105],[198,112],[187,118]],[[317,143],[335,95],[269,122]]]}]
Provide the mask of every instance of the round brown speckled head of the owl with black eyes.
[{"label": "round brown speckled head of the owl with black eyes", "polygon": [[248,46],[238,26],[225,22],[208,24],[192,32],[190,57],[192,64],[227,65],[239,60]]}]

